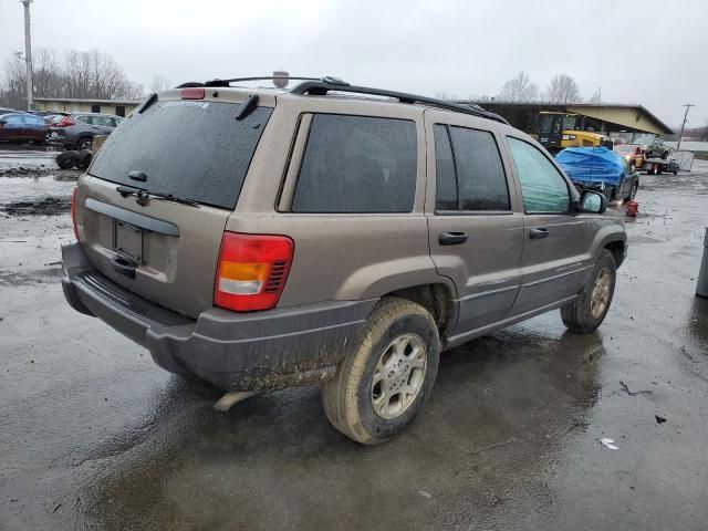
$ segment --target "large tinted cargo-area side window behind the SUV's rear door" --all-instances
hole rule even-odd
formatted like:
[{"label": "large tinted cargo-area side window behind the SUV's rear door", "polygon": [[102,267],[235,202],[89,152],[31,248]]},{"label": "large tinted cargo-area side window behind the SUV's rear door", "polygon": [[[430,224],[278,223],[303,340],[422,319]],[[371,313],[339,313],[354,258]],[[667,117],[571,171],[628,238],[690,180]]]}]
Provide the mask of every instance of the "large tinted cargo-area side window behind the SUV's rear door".
[{"label": "large tinted cargo-area side window behind the SUV's rear door", "polygon": [[409,212],[416,191],[416,124],[317,114],[293,212]]}]

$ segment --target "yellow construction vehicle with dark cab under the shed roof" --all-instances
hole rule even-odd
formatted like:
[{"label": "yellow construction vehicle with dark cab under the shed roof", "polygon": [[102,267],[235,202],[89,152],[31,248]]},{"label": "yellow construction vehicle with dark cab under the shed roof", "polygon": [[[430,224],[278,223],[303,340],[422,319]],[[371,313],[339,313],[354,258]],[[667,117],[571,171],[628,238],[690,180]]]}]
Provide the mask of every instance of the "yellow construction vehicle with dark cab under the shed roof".
[{"label": "yellow construction vehicle with dark cab under the shed roof", "polygon": [[583,131],[580,116],[570,113],[539,113],[538,139],[551,153],[566,147],[607,147],[612,149],[612,140],[592,131]]}]

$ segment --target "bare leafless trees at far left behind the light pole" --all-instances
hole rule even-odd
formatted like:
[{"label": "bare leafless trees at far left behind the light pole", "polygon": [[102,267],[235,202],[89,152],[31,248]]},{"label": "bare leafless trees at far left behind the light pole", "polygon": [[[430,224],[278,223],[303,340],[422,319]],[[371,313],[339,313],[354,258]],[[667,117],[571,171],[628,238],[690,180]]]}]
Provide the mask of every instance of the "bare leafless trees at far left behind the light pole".
[{"label": "bare leafless trees at far left behind the light pole", "polygon": [[[34,97],[133,100],[143,86],[132,82],[115,59],[98,50],[37,49],[32,58]],[[13,54],[0,79],[0,106],[27,107],[24,60]]]}]

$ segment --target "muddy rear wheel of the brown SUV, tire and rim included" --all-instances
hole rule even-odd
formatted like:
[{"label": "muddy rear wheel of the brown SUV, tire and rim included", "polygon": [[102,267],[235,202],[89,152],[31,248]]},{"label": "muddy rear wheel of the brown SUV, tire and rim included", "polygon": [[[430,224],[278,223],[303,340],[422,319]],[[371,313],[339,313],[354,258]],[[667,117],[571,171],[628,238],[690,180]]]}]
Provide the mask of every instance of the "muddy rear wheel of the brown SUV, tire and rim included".
[{"label": "muddy rear wheel of the brown SUV, tire and rim included", "polygon": [[430,395],[439,355],[430,313],[405,299],[383,299],[322,388],[327,418],[364,445],[395,437]]}]

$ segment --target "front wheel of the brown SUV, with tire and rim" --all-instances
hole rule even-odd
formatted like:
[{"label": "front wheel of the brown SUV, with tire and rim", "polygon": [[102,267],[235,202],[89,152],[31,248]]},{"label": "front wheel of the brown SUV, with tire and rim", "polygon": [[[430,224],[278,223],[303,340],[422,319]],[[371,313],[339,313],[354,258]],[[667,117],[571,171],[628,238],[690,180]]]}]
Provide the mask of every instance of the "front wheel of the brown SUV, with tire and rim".
[{"label": "front wheel of the brown SUV, with tire and rim", "polygon": [[603,249],[593,275],[580,291],[577,299],[561,308],[563,324],[581,334],[597,329],[610,311],[616,280],[615,259],[608,250]]}]

